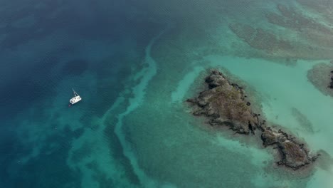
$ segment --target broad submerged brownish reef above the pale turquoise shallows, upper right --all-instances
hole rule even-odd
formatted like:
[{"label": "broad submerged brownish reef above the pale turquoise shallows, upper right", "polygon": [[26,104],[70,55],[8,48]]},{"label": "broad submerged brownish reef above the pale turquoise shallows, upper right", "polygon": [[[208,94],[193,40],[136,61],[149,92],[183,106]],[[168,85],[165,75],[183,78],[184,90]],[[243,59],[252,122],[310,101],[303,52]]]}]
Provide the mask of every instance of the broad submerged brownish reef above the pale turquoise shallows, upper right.
[{"label": "broad submerged brownish reef above the pale turquoise shallows, upper right", "polygon": [[[333,47],[333,19],[318,19],[302,9],[277,4],[278,12],[265,14],[271,24],[230,23],[233,33],[264,58],[330,59]],[[319,15],[317,13],[316,15]],[[333,15],[332,15],[333,16]],[[332,17],[331,16],[331,17]],[[270,26],[269,28],[267,26]]]}]

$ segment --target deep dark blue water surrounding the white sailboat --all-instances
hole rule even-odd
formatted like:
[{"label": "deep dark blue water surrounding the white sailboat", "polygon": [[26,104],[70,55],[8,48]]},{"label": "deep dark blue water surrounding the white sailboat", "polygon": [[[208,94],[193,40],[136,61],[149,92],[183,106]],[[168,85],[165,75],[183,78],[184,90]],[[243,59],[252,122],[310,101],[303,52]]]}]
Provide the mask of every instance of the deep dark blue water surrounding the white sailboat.
[{"label": "deep dark blue water surrounding the white sailboat", "polygon": [[[157,23],[127,19],[128,3],[0,2],[8,7],[0,11],[4,35],[0,43],[0,187],[81,187],[82,174],[66,164],[70,142],[91,126],[91,115],[102,116],[114,103],[131,68],[141,63],[145,46],[159,29]],[[25,20],[31,15],[33,23]],[[15,25],[21,19],[21,26]],[[58,126],[57,118],[72,113],[67,107],[72,87],[85,99],[85,104],[70,109],[83,114],[82,127],[71,130],[69,118],[65,120],[68,125],[49,132]],[[62,110],[48,112],[58,95],[62,97],[56,106]],[[28,123],[20,125],[25,120]],[[24,130],[18,133],[20,129]],[[29,130],[46,137],[25,142],[31,137]],[[105,130],[110,133],[110,148],[130,174],[112,130]],[[56,147],[51,148],[51,143]],[[39,147],[38,156],[22,164],[21,157],[34,147]],[[103,175],[96,178],[101,187],[113,187],[112,180]],[[132,179],[137,183],[135,176]]]}]

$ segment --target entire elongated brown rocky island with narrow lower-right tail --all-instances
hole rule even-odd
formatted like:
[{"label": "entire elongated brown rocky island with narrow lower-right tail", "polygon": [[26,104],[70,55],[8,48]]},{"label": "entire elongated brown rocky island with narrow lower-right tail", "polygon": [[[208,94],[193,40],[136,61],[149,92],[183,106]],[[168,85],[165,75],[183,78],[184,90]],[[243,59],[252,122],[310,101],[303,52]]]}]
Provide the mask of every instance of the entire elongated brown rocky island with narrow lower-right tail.
[{"label": "entire elongated brown rocky island with narrow lower-right tail", "polygon": [[193,115],[206,116],[210,125],[228,126],[238,134],[259,132],[263,145],[273,146],[280,153],[278,165],[297,170],[317,159],[318,155],[310,156],[309,150],[295,137],[266,125],[260,113],[253,111],[243,88],[231,83],[221,72],[211,71],[205,81],[207,89],[186,100],[193,107]]}]

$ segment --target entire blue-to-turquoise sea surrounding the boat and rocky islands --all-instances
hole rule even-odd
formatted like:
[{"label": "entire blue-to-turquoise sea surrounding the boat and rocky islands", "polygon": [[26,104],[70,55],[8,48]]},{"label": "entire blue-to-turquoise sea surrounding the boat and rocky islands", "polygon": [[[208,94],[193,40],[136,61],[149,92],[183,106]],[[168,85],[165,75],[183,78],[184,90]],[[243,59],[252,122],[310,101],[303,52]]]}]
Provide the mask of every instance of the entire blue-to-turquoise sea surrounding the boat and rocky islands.
[{"label": "entire blue-to-turquoise sea surrounding the boat and rocky islands", "polygon": [[[307,80],[333,58],[330,31],[315,25],[332,26],[329,6],[0,1],[0,187],[333,187],[333,98]],[[285,22],[269,21],[273,14]],[[255,90],[268,120],[331,162],[286,173],[272,165],[273,150],[207,129],[184,100],[209,68]],[[83,100],[68,108],[71,88]]]}]

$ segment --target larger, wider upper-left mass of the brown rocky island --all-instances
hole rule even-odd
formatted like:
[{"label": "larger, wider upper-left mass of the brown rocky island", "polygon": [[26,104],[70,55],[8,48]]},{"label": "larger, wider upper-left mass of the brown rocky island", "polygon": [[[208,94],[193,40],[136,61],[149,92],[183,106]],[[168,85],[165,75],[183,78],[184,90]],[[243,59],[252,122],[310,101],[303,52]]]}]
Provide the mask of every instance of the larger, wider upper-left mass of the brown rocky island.
[{"label": "larger, wider upper-left mass of the brown rocky island", "polygon": [[206,83],[208,90],[201,92],[198,98],[187,100],[196,104],[194,115],[206,115],[210,117],[211,125],[227,125],[243,134],[249,134],[258,127],[257,115],[245,100],[243,88],[229,83],[218,71],[213,71]]}]

